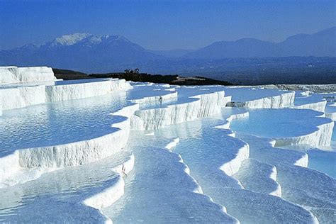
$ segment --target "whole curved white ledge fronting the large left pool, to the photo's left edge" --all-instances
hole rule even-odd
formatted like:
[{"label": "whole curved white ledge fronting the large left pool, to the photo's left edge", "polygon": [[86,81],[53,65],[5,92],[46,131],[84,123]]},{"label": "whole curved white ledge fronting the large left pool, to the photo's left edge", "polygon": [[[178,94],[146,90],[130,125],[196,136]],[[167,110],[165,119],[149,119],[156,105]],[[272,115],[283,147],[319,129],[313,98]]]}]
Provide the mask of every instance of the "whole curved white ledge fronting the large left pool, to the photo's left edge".
[{"label": "whole curved white ledge fronting the large left pool, to the photo's left edge", "polygon": [[[112,128],[116,130],[99,138],[26,148],[0,157],[0,188],[36,179],[55,169],[89,164],[119,152],[128,141],[130,118],[113,124]],[[23,178],[21,173],[26,176]]]}]

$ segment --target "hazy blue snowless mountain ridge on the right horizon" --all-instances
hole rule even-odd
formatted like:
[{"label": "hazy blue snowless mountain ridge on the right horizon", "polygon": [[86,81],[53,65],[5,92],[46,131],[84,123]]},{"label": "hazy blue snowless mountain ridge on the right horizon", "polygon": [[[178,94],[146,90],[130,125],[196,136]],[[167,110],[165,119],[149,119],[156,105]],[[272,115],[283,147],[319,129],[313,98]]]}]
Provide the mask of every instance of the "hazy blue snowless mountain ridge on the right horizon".
[{"label": "hazy blue snowless mountain ridge on the right horizon", "polygon": [[280,43],[271,43],[253,38],[220,41],[184,55],[187,58],[209,59],[291,56],[335,57],[336,27],[311,35],[293,35]]}]

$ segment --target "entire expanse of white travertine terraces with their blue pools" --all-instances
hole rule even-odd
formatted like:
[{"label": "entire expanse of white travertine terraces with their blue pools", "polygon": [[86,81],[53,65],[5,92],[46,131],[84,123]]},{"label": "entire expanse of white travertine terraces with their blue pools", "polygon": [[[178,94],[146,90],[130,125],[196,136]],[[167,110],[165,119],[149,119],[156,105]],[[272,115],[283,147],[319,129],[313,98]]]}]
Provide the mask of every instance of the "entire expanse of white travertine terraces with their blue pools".
[{"label": "entire expanse of white travertine terraces with their blue pools", "polygon": [[335,97],[0,67],[0,222],[335,223]]}]

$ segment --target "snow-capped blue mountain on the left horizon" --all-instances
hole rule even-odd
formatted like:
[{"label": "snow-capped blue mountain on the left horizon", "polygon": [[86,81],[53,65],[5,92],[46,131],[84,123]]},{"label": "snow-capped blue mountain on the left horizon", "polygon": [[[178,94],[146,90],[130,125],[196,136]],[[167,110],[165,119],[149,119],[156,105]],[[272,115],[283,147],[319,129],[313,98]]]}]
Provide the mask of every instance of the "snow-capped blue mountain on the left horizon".
[{"label": "snow-capped blue mountain on the left horizon", "polygon": [[160,57],[121,35],[74,33],[43,45],[1,50],[0,65],[47,65],[86,71],[104,67],[111,69],[114,65],[128,62],[142,64]]}]

